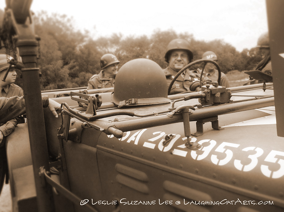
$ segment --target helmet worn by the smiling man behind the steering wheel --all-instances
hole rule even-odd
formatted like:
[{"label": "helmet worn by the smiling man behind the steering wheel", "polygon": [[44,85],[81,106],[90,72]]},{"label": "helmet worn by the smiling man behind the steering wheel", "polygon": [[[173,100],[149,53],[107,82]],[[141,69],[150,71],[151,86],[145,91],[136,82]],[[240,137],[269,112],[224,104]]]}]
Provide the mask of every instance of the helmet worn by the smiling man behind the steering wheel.
[{"label": "helmet worn by the smiling man behind the steering wheel", "polygon": [[193,54],[190,51],[189,42],[185,39],[174,39],[169,42],[167,53],[165,54],[165,61],[169,62],[169,56],[173,50],[185,50],[189,56],[189,62],[193,60]]}]

